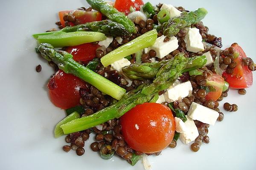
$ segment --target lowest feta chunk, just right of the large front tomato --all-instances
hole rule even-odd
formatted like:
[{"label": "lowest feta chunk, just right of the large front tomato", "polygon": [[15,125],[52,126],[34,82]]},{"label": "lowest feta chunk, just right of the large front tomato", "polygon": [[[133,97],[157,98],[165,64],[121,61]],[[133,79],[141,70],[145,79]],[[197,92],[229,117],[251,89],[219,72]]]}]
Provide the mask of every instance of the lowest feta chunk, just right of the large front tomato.
[{"label": "lowest feta chunk, just right of the large front tomato", "polygon": [[184,144],[188,144],[196,139],[198,137],[198,128],[195,126],[194,120],[192,120],[188,115],[186,115],[186,122],[184,122],[186,126],[186,131],[183,133],[180,133],[180,140]]}]

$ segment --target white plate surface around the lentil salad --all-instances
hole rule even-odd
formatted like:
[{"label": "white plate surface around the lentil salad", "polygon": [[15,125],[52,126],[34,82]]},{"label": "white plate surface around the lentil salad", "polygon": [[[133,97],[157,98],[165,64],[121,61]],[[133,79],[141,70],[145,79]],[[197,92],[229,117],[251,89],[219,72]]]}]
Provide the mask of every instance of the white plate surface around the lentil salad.
[{"label": "white plate surface around the lentil salad", "polygon": [[[151,2],[158,3],[153,0]],[[162,0],[163,2],[168,3],[169,0]],[[209,33],[222,37],[224,48],[238,42],[247,56],[256,61],[255,0],[172,0],[171,3],[187,10],[206,8],[209,13],[203,21],[209,27]],[[61,149],[65,144],[64,137],[53,137],[53,128],[64,118],[65,113],[53,106],[48,99],[46,84],[53,70],[35,53],[37,44],[31,35],[56,27],[58,11],[81,6],[87,6],[85,0],[0,2],[2,170],[143,170],[141,162],[132,167],[117,156],[111,160],[101,159],[98,153],[90,150],[90,142],[85,144],[84,156],[76,156],[74,151],[64,153]],[[40,73],[35,71],[38,64],[42,65]],[[255,170],[255,94],[255,82],[252,88],[247,89],[245,96],[231,91],[223,102],[236,103],[239,110],[234,113],[224,111],[224,121],[209,128],[209,144],[203,144],[194,153],[190,150],[190,145],[178,142],[175,149],[168,148],[157,157],[149,156],[152,168]]]}]

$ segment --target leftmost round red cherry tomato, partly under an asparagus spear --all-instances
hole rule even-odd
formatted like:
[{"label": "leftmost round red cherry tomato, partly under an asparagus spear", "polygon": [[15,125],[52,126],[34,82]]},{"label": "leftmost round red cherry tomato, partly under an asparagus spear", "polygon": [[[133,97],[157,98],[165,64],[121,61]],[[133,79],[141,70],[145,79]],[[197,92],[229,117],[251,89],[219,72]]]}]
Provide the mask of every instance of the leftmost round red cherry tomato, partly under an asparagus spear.
[{"label": "leftmost round red cherry tomato, partly under an asparagus spear", "polygon": [[49,96],[51,102],[62,109],[68,109],[79,105],[79,89],[86,88],[86,83],[64,71],[57,71],[48,82]]}]

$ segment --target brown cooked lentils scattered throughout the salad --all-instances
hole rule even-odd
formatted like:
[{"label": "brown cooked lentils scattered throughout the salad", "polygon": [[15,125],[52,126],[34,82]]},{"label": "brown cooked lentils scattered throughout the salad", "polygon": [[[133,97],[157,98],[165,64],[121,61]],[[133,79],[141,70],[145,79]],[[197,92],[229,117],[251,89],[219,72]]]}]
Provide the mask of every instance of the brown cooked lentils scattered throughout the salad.
[{"label": "brown cooked lentils scattered throughout the salad", "polygon": [[[161,8],[161,6],[162,6],[162,4],[157,5],[157,7],[158,7],[158,11],[156,11],[157,13],[159,12],[159,9]],[[181,12],[185,11],[185,9],[183,7],[178,7],[177,9]],[[79,8],[79,10],[91,11],[92,8],[91,7],[89,7],[89,8],[81,7],[81,8]],[[109,52],[113,51],[114,49],[118,48],[119,46],[121,46],[131,40],[134,40],[136,37],[139,37],[140,35],[152,30],[153,24],[158,24],[157,13],[155,15],[151,16],[151,18],[149,18],[146,21],[140,20],[140,22],[138,24],[135,23],[137,33],[132,34],[131,36],[122,37],[122,42],[120,44],[114,38],[113,42],[111,42],[111,45],[109,45],[108,47],[102,46],[102,47],[97,48],[96,49],[96,57],[100,59],[104,55],[106,55]],[[73,25],[79,24],[79,20],[74,18],[72,14],[65,15],[63,19],[65,21],[65,26],[70,26],[71,23]],[[61,26],[60,22],[57,22],[56,24],[59,26],[60,29],[63,28]],[[186,44],[184,42],[184,38],[187,33],[187,28],[183,28],[183,29],[180,29],[180,31],[176,35],[176,37],[178,39],[178,44],[179,44],[179,47],[177,48],[177,50],[172,51],[170,54],[166,55],[162,59],[156,58],[156,60],[162,61],[162,60],[166,60],[166,59],[172,59],[178,53],[183,53],[185,55],[185,57],[201,56],[203,53],[205,53],[207,51],[210,51],[212,56],[215,58],[217,55],[217,51],[216,51],[215,47],[219,47],[219,48],[222,47],[221,37],[215,37],[214,35],[208,34],[207,32],[209,29],[206,26],[204,26],[204,24],[202,22],[194,24],[194,25],[192,25],[192,27],[198,28],[200,30],[200,34],[201,34],[202,38],[205,40],[205,42],[211,44],[212,47],[205,48],[205,51],[199,51],[198,53],[186,51]],[[52,29],[49,31],[55,31],[55,29]],[[162,35],[163,35],[163,33],[159,32],[157,34],[157,37],[160,37]],[[166,37],[164,39],[164,42],[167,42],[169,40],[170,40],[169,37]],[[93,42],[93,44],[98,44],[98,43],[99,42]],[[65,48],[63,48],[62,50],[65,50]],[[230,47],[224,51],[220,51],[220,55],[222,56],[219,59],[220,68],[227,69],[228,74],[232,74],[233,69],[236,68],[236,62],[233,61],[234,51],[235,50],[233,47]],[[143,55],[141,58],[142,63],[152,62],[151,59],[154,57],[156,57],[156,52],[154,50],[150,50],[150,51],[148,51],[148,53],[143,52]],[[136,62],[136,54],[131,55],[130,62],[131,63]],[[254,67],[254,63],[253,63],[252,59],[244,58],[242,60],[242,62],[244,65],[247,65],[251,71],[255,71],[256,68]],[[83,63],[83,62],[79,62],[79,63],[81,65],[87,65],[87,63]],[[49,62],[49,65],[51,65],[55,69],[55,71],[58,70],[58,66],[55,65],[53,62]],[[192,91],[191,96],[185,97],[180,101],[175,101],[174,108],[179,108],[181,111],[183,111],[185,114],[187,114],[191,103],[196,102],[200,105],[204,105],[207,108],[217,111],[219,113],[217,120],[219,122],[221,122],[224,119],[224,114],[222,112],[220,112],[220,110],[218,108],[219,101],[223,100],[224,97],[227,97],[227,92],[229,91],[229,89],[227,89],[227,91],[222,92],[221,96],[219,97],[219,99],[217,101],[214,101],[212,99],[207,100],[205,98],[205,96],[207,95],[206,89],[209,87],[206,85],[206,79],[208,76],[211,76],[213,73],[215,73],[215,68],[213,65],[209,65],[209,66],[201,68],[201,70],[203,71],[203,75],[190,76],[188,74],[188,72],[186,72],[186,73],[183,73],[183,75],[178,79],[179,82],[190,81],[192,84],[193,91]],[[37,72],[41,71],[41,65],[38,65],[36,67],[36,71]],[[101,63],[99,63],[95,72],[106,77],[107,79],[111,80],[112,82],[119,85],[120,87],[125,88],[127,91],[136,89],[139,85],[141,85],[145,82],[152,81],[152,80],[143,80],[143,81],[133,80],[131,85],[128,86],[128,81],[125,79],[125,77],[123,77],[117,71],[111,70],[110,66],[104,68]],[[97,111],[100,111],[103,108],[106,108],[109,105],[116,102],[116,100],[113,99],[111,96],[103,95],[97,88],[95,88],[91,85],[87,85],[86,89],[80,88],[79,93],[81,96],[80,104],[84,108],[84,113],[81,114],[82,117],[89,116],[93,113],[96,113]],[[159,95],[161,95],[163,93],[164,93],[164,91],[160,91]],[[245,89],[239,89],[238,93],[241,95],[244,95],[244,94],[246,94],[246,91],[245,91]],[[169,103],[163,102],[161,104],[168,106]],[[237,111],[238,106],[236,104],[230,105],[229,103],[226,102],[224,104],[224,109],[226,111],[230,111],[230,112]],[[199,136],[195,139],[194,143],[191,144],[191,150],[194,152],[197,152],[200,149],[201,144],[203,142],[206,144],[208,144],[210,142],[209,136],[207,136],[207,134],[209,132],[209,129],[208,129],[209,125],[199,122],[197,120],[195,120],[194,122],[195,122],[196,127],[198,128]],[[81,156],[85,152],[85,150],[83,148],[84,142],[89,139],[89,136],[93,135],[95,142],[90,144],[90,148],[94,152],[101,152],[102,154],[107,155],[107,154],[110,154],[114,150],[117,155],[119,155],[123,159],[126,159],[128,162],[132,158],[133,153],[135,153],[136,155],[143,154],[137,150],[133,150],[125,142],[125,140],[123,139],[122,133],[121,133],[122,127],[119,124],[119,119],[112,119],[108,122],[103,123],[102,125],[100,125],[100,127],[101,128],[99,128],[99,126],[96,126],[96,127],[89,128],[87,130],[82,130],[80,132],[70,133],[65,138],[65,141],[69,145],[63,146],[63,150],[65,152],[69,152],[71,149],[76,150],[77,155]],[[174,147],[176,147],[176,145],[177,145],[177,142],[175,139],[173,139],[172,142],[169,144],[169,147],[174,148]],[[158,156],[158,155],[160,155],[160,153],[161,153],[161,151],[157,152],[157,153],[151,153],[148,155]]]}]

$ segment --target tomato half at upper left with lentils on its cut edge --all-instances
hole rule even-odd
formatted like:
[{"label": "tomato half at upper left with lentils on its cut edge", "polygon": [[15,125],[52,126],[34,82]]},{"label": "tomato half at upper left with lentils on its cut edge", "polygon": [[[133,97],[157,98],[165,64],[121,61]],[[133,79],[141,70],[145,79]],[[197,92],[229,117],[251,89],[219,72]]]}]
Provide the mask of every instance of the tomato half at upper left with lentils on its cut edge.
[{"label": "tomato half at upper left with lentils on its cut edge", "polygon": [[[61,25],[65,27],[65,21],[63,17],[67,14],[73,15],[76,20],[79,20],[79,24],[90,23],[93,21],[101,21],[102,14],[97,11],[83,11],[83,10],[75,10],[75,11],[59,11],[59,18],[61,21]],[[71,26],[75,26],[75,23],[69,22]]]}]

